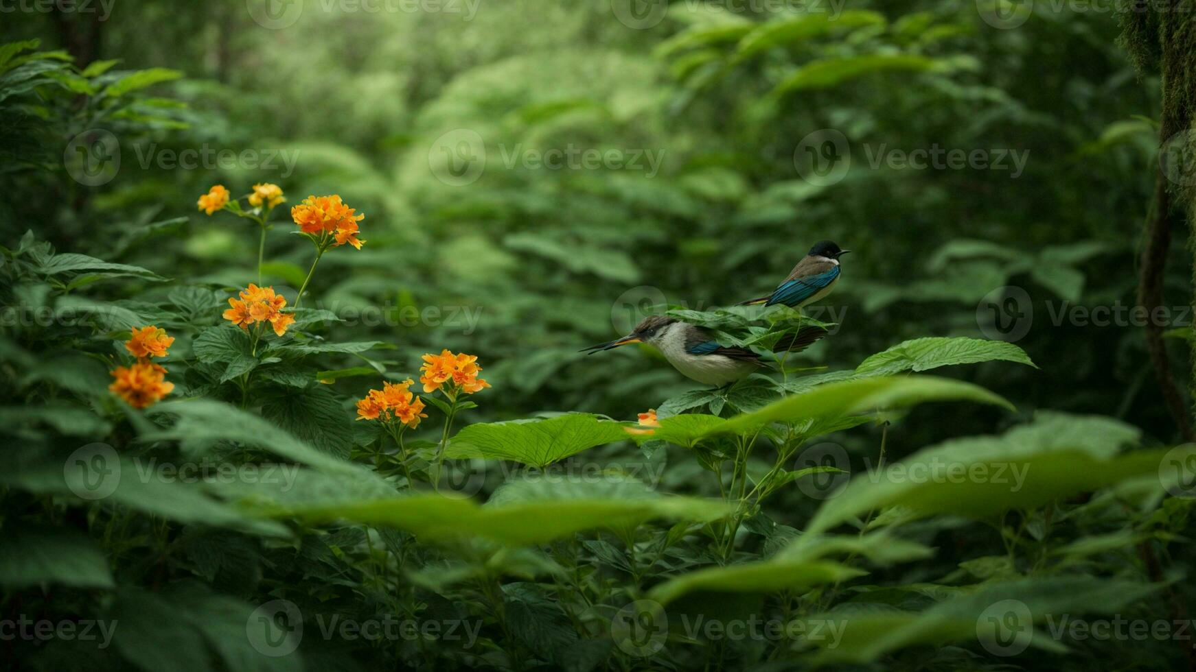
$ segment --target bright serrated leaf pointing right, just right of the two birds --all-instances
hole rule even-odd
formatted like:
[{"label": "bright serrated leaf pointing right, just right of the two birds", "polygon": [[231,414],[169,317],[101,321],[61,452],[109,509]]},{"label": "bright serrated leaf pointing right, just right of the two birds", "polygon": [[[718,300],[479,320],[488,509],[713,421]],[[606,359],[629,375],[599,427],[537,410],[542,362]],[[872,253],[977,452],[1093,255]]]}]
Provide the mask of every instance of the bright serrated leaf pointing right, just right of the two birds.
[{"label": "bright serrated leaf pointing right, just right of the two birds", "polygon": [[994,359],[1035,366],[1026,351],[1012,343],[978,338],[916,338],[868,357],[856,366],[855,372],[860,376],[891,376],[902,371],[927,371]]}]

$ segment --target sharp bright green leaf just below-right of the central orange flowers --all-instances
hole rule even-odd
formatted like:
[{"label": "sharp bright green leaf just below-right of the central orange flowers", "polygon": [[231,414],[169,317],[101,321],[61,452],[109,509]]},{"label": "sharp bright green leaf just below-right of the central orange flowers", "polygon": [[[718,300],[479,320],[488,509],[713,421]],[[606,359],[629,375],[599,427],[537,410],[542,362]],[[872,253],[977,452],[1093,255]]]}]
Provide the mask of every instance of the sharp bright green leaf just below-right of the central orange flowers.
[{"label": "sharp bright green leaf just below-right of the central orange flowers", "polygon": [[587,448],[628,438],[620,423],[587,413],[567,413],[548,420],[470,425],[452,438],[445,455],[511,460],[543,468]]}]

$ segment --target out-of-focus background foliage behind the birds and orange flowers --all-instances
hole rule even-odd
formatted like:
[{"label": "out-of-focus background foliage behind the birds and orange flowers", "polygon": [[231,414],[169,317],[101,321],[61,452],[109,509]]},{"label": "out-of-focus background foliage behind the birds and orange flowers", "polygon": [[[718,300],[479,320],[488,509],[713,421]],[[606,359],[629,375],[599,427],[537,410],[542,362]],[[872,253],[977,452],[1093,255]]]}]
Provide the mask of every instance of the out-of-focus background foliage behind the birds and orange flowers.
[{"label": "out-of-focus background foliage behind the birds and orange flowers", "polygon": [[[1110,5],[1038,4],[1015,27],[997,27],[983,1],[682,1],[643,30],[618,20],[608,0],[444,5],[457,12],[300,6],[279,30],[255,21],[242,0],[117,0],[105,20],[6,16],[0,42],[39,37],[80,67],[120,58],[115,68],[181,78],[147,90],[154,98],[121,118],[97,118],[71,97],[38,112],[56,122],[32,148],[41,155],[13,152],[26,160],[0,169],[4,245],[31,228],[62,251],[244,285],[256,229],[195,212],[200,193],[273,181],[293,204],[338,192],[367,215],[368,243],[329,255],[313,296],[335,310],[388,310],[390,323],[366,327],[398,346],[396,375],[415,371],[419,353],[465,350],[494,384],[488,419],[627,419],[692,383],[647,349],[586,357],[580,347],[618,335],[661,298],[707,309],[758,296],[812,242],[832,239],[854,251],[825,302],[841,326],[803,355],[808,366],[850,369],[908,338],[984,335],[978,303],[1014,285],[1033,307],[1019,345],[1041,370],[994,363],[956,375],[1007,396],[1024,417],[1045,407],[1103,413],[1155,440],[1177,438],[1140,328],[1054,323],[1068,307],[1135,302],[1159,86],[1118,48]],[[121,169],[97,187],[72,180],[61,161],[65,140],[89,125],[121,143]],[[441,138],[462,129],[484,143],[484,169],[446,184],[454,180],[441,179],[445,162],[462,146]],[[850,169],[835,184],[807,181],[795,162],[819,129],[850,143]],[[507,159],[569,147],[642,152],[643,169]],[[280,154],[275,169],[166,169],[155,160],[205,148]],[[872,167],[885,148],[1029,160],[1017,177],[1012,162]],[[661,159],[654,171],[649,156]],[[189,217],[152,226],[178,215]],[[291,230],[283,222],[268,239],[267,282],[276,286],[297,286],[309,258]],[[1174,233],[1167,304],[1183,307],[1185,234]],[[439,316],[411,323],[399,319],[404,307]],[[481,312],[476,328],[459,313],[443,323],[457,308]],[[362,325],[342,328],[367,338]],[[368,384],[337,382],[353,395]],[[890,451],[991,431],[999,418],[957,412],[950,426],[891,433]]]}]

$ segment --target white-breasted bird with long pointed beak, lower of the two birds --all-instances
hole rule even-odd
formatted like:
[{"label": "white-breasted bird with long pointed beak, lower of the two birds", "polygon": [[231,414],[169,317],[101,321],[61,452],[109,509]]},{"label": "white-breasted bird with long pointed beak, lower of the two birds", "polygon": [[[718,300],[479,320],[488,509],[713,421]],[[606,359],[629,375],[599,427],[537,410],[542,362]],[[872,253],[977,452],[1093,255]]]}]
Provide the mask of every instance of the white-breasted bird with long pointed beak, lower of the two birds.
[{"label": "white-breasted bird with long pointed beak, lower of the two birds", "polygon": [[[773,351],[800,352],[824,335],[826,329],[822,327],[803,327],[798,333],[783,337]],[[631,343],[655,346],[685,377],[714,387],[731,384],[765,365],[765,360],[751,350],[719,345],[702,327],[665,315],[652,315],[626,337],[590,346],[582,352],[593,355]]]}]

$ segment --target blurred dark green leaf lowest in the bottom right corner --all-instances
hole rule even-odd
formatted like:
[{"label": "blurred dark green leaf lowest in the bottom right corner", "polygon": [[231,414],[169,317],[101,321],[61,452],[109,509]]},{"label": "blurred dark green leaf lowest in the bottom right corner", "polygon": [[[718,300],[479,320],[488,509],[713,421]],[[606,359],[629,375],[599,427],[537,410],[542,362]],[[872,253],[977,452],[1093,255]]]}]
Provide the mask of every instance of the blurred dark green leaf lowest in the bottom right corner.
[{"label": "blurred dark green leaf lowest in the bottom right corner", "polygon": [[978,588],[925,611],[838,610],[804,619],[810,627],[838,627],[834,639],[806,637],[820,647],[813,662],[865,665],[911,646],[942,647],[977,640],[987,647],[1018,646],[1017,653],[1029,646],[1062,653],[1067,651],[1063,645],[1035,629],[1036,623],[1112,614],[1158,590],[1151,584],[1104,577],[1042,577]]}]

